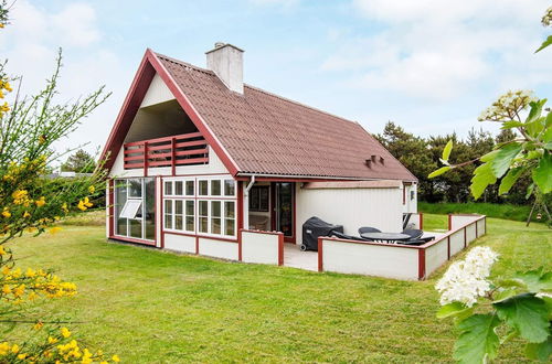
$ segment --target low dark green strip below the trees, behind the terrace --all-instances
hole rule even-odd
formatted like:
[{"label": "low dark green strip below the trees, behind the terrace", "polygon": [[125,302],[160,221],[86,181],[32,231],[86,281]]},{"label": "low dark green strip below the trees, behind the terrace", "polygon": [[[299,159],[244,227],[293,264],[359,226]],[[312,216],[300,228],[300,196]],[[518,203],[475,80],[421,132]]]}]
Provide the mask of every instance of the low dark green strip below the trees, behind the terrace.
[{"label": "low dark green strip below the trees, behind the terrace", "polygon": [[[450,213],[478,213],[489,217],[513,220],[518,222],[527,222],[529,213],[531,212],[530,205],[511,205],[511,204],[493,204],[484,202],[468,202],[468,203],[427,203],[418,202],[418,210],[428,214],[450,214]],[[531,221],[538,222],[537,213],[533,213]],[[545,217],[541,222],[544,222]]]}]

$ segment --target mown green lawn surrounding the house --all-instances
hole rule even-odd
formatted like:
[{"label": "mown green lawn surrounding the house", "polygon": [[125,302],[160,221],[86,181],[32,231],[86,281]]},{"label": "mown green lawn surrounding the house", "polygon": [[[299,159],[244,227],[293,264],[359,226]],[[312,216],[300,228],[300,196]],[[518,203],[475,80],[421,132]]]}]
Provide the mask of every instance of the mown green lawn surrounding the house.
[{"label": "mown green lawn surrounding the house", "polygon": [[[429,228],[446,216],[425,215]],[[428,281],[405,282],[291,268],[223,263],[108,244],[102,226],[73,224],[57,235],[13,243],[22,267],[53,267],[79,293],[40,310],[71,317],[93,347],[126,363],[448,362],[454,335],[435,319]],[[543,225],[489,218],[476,244],[501,254],[495,272],[552,261]],[[522,361],[521,345],[502,351]]]}]

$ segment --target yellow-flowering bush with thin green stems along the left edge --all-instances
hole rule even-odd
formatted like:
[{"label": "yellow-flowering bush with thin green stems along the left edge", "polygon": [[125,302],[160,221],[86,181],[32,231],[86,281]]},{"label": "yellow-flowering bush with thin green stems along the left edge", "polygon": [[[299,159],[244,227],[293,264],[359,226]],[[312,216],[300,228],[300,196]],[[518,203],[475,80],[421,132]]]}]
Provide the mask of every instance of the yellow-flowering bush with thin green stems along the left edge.
[{"label": "yellow-flowering bush with thin green stems along the left edge", "polygon": [[[0,29],[8,24],[8,13],[6,1],[0,0]],[[56,105],[60,53],[46,87],[36,96],[18,96],[17,103],[10,103],[11,84],[18,78],[9,77],[4,65],[0,63],[0,363],[118,362],[116,355],[82,344],[55,318],[29,317],[34,302],[72,297],[77,287],[51,269],[20,267],[9,247],[25,233],[55,234],[64,216],[94,206],[96,191],[105,185],[102,163],[91,175],[56,183],[47,176],[50,165],[61,157],[52,143],[73,131],[109,95],[100,88],[77,101]],[[15,325],[29,323],[28,339],[10,336]]]}]

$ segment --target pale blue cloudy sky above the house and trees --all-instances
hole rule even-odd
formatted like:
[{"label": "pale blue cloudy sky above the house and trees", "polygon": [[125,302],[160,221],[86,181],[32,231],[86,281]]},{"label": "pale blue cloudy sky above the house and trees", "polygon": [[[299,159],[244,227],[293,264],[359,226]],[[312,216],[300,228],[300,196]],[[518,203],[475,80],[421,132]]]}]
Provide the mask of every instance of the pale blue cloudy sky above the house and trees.
[{"label": "pale blue cloudy sky above the house and trees", "polygon": [[23,89],[35,90],[64,50],[62,96],[105,84],[110,99],[60,149],[102,146],[146,47],[200,66],[214,42],[245,50],[254,86],[357,120],[428,136],[471,127],[501,93],[552,90],[546,0],[31,1],[0,35]]}]

